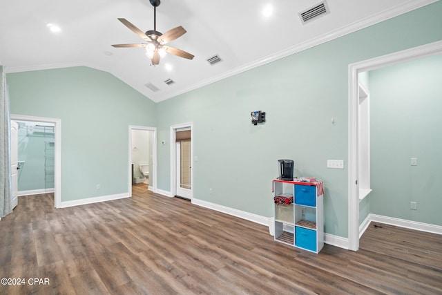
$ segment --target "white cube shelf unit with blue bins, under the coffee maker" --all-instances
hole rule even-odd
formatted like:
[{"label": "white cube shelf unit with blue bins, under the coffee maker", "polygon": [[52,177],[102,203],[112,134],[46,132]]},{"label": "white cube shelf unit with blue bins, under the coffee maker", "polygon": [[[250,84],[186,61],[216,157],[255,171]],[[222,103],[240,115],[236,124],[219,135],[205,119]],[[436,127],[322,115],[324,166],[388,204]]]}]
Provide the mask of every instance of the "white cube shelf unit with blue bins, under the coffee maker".
[{"label": "white cube shelf unit with blue bins, under the coffee maker", "polygon": [[323,191],[318,190],[316,182],[273,180],[274,197],[294,196],[293,204],[274,204],[277,242],[314,253],[323,249]]}]

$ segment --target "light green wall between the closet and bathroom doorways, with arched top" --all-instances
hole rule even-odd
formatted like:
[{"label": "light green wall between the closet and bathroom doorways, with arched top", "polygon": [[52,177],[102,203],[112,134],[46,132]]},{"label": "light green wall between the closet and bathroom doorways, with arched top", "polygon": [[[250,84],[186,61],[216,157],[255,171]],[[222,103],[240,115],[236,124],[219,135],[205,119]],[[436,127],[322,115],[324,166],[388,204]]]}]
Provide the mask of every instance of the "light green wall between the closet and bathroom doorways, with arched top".
[{"label": "light green wall between the closet and bathroom doorways, with arched top", "polygon": [[128,126],[155,126],[155,103],[86,67],[10,73],[6,80],[12,114],[61,119],[61,201],[128,192]]}]

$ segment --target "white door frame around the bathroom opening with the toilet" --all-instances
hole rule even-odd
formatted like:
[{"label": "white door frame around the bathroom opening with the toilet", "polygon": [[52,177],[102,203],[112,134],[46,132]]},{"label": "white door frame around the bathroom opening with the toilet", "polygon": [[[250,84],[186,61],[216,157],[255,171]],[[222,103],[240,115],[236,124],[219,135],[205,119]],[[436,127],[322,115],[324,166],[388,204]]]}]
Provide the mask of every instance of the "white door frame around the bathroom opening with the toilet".
[{"label": "white door frame around the bathroom opening with the toilet", "polygon": [[[128,143],[128,193],[129,197],[132,198],[132,131],[133,130],[143,130],[143,131],[153,131],[152,136],[152,174],[149,175],[149,180],[152,180],[152,191],[157,192],[157,128],[147,127],[147,126],[133,126],[129,125],[129,143]],[[150,189],[149,185],[149,189]]]}]

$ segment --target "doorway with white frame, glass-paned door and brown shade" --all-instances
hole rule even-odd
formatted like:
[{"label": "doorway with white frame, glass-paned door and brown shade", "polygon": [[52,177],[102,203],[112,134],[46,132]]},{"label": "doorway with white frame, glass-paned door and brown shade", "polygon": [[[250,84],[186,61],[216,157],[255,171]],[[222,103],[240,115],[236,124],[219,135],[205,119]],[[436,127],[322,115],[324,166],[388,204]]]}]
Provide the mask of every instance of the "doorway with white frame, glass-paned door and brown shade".
[{"label": "doorway with white frame, glass-paned door and brown shade", "polygon": [[171,188],[172,196],[193,198],[192,124],[171,126]]}]

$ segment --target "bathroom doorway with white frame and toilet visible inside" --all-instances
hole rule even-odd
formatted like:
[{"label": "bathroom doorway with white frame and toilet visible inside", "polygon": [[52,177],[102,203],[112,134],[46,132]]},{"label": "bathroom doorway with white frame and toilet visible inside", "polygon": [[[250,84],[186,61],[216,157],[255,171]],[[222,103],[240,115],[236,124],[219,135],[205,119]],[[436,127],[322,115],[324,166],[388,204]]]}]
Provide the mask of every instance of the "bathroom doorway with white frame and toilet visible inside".
[{"label": "bathroom doorway with white frame and toilet visible inside", "polygon": [[156,190],[156,129],[143,126],[129,127],[129,188],[132,186]]}]

